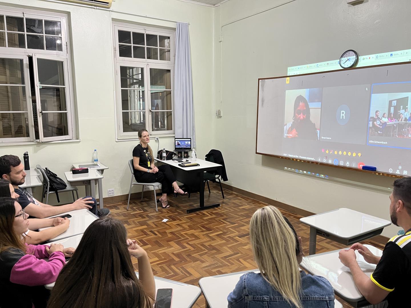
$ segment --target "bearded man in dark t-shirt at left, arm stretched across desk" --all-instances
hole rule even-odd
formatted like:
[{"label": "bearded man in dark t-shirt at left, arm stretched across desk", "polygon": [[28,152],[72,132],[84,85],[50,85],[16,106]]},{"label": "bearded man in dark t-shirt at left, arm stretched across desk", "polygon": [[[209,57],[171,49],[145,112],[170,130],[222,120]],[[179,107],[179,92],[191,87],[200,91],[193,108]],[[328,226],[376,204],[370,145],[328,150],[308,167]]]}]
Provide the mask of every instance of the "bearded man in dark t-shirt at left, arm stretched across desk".
[{"label": "bearded man in dark t-shirt at left, arm stretched across desk", "polygon": [[96,200],[91,197],[85,197],[71,204],[55,207],[39,202],[24,188],[18,187],[18,185],[24,184],[26,175],[24,165],[17,156],[3,155],[0,157],[0,177],[13,185],[14,191],[19,195],[18,203],[30,216],[44,218],[76,209],[88,209],[99,217],[110,214],[109,209],[97,209]]}]

